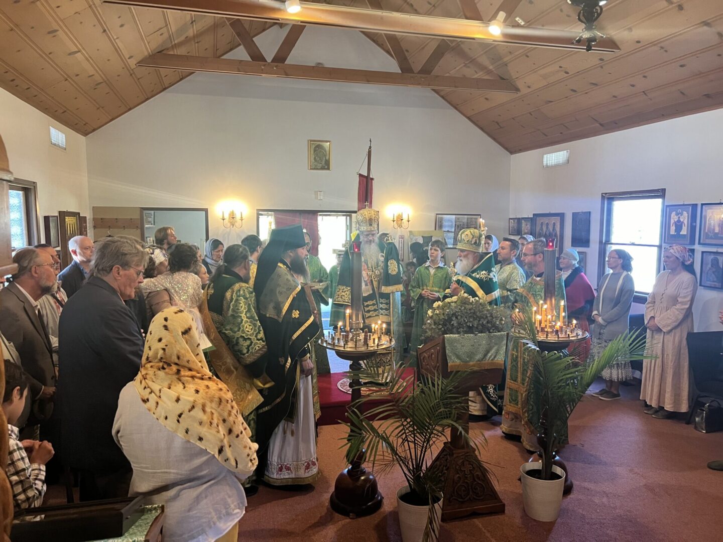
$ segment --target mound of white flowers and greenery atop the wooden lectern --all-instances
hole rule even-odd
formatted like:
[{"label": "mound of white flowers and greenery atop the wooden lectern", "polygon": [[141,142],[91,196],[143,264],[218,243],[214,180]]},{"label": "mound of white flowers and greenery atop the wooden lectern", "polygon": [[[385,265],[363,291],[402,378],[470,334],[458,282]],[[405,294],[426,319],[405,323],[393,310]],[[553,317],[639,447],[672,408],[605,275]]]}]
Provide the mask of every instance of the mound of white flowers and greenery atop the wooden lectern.
[{"label": "mound of white flowers and greenery atop the wooden lectern", "polygon": [[492,306],[479,298],[460,293],[444,301],[437,301],[427,311],[424,340],[434,340],[442,335],[507,332],[511,326],[509,309]]}]

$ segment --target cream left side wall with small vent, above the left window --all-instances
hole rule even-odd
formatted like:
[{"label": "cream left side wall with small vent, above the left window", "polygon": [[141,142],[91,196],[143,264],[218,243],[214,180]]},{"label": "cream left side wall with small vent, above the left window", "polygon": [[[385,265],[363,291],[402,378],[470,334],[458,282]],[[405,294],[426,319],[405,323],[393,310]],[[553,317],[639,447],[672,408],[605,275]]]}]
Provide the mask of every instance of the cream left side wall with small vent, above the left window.
[{"label": "cream left side wall with small vent, above the left window", "polygon": [[[64,132],[67,150],[50,144],[50,126]],[[85,137],[3,89],[0,134],[14,176],[38,183],[40,237],[44,236],[43,215],[57,215],[58,211],[88,215]]]}]

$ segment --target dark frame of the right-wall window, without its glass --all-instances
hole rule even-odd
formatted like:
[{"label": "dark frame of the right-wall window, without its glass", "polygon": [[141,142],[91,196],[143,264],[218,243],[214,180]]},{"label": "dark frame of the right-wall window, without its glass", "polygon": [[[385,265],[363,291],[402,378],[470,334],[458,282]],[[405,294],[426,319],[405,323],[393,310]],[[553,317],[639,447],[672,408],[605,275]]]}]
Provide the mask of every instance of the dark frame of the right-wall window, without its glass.
[{"label": "dark frame of the right-wall window, without its glass", "polygon": [[[657,244],[636,244],[636,243],[612,243],[609,241],[612,231],[612,202],[616,199],[652,199],[660,198],[660,236]],[[656,276],[660,273],[660,260],[663,250],[663,228],[665,215],[665,189],[648,189],[648,190],[628,190],[625,192],[603,192],[600,196],[600,238],[598,245],[597,272],[598,277],[602,278],[607,271],[605,264],[606,248],[608,245],[615,245],[624,248],[625,246],[651,246],[658,249],[658,257],[656,258]],[[648,299],[649,292],[636,290],[633,296],[634,303],[645,303]]]}]

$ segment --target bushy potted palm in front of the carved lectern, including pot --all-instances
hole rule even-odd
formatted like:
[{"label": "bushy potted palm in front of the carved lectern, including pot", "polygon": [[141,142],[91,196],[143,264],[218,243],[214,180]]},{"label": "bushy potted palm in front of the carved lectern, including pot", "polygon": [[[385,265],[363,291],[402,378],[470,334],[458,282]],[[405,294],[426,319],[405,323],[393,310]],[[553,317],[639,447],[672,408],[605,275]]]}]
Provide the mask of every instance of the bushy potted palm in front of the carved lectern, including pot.
[{"label": "bushy potted palm in front of the carved lectern, including pot", "polygon": [[[345,437],[346,457],[364,453],[376,473],[401,469],[406,486],[397,493],[399,522],[403,542],[437,541],[442,509],[443,473],[429,468],[435,450],[447,440],[447,431],[457,429],[470,447],[479,449],[482,440],[471,439],[458,423],[468,404],[458,392],[464,374],[448,378],[429,378],[416,382],[403,377],[408,364],[395,369],[365,367],[351,373],[352,378],[367,382],[385,382],[390,390],[388,403],[365,413],[364,403],[380,395],[361,397],[348,410],[349,433]],[[388,374],[380,374],[387,371]]]}]

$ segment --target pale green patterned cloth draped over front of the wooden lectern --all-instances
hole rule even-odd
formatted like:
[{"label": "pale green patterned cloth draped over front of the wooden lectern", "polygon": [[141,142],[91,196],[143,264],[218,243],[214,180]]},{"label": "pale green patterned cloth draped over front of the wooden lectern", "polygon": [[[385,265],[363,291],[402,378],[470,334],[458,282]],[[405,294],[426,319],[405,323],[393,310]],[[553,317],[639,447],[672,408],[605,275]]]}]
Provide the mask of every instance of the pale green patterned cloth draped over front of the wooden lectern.
[{"label": "pale green patterned cloth draped over front of the wooden lectern", "polygon": [[449,370],[504,369],[510,337],[507,332],[445,335]]}]

